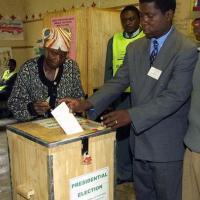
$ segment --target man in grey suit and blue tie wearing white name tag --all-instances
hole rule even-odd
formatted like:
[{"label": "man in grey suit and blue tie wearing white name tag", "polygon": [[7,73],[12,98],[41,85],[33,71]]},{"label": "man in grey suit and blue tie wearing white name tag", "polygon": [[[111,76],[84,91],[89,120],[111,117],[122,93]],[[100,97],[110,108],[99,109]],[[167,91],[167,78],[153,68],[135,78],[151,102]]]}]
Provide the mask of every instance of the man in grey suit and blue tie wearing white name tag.
[{"label": "man in grey suit and blue tie wearing white name tag", "polygon": [[146,37],[127,47],[115,77],[88,100],[66,102],[99,115],[129,85],[132,107],[102,116],[113,129],[131,125],[137,200],[181,200],[181,182],[195,44],[172,25],[175,0],[139,0]]}]

